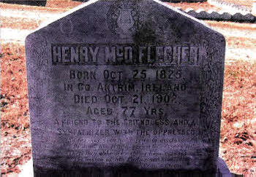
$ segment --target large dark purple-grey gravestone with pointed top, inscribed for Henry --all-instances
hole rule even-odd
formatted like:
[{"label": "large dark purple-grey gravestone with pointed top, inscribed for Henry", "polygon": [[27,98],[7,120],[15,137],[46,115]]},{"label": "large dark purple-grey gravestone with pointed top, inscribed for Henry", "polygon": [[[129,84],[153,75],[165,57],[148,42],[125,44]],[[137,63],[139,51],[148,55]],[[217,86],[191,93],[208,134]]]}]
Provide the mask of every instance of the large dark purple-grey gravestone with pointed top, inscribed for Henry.
[{"label": "large dark purple-grey gravestone with pointed top, inscribed for Henry", "polygon": [[29,34],[35,175],[215,176],[224,58],[222,34],[157,0],[89,1]]}]

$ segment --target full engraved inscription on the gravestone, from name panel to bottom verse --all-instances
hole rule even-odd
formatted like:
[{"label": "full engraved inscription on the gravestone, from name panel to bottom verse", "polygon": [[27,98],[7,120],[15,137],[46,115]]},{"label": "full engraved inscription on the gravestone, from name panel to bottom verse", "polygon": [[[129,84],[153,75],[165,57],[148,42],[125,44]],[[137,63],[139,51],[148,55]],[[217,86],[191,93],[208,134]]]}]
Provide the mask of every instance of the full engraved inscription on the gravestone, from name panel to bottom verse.
[{"label": "full engraved inscription on the gravestone, from name panel to bottom verse", "polygon": [[[53,67],[63,67],[58,72],[63,80],[55,91],[66,99],[59,103],[73,108],[56,118],[56,132],[72,141],[69,155],[75,161],[140,162],[156,168],[165,162],[165,168],[180,168],[184,161],[190,161],[188,154],[197,153],[197,149],[190,149],[182,154],[200,135],[199,46],[51,47]],[[131,143],[122,137],[129,137]],[[176,154],[161,152],[162,144],[182,148]],[[78,155],[80,151],[83,153]],[[94,155],[101,158],[94,159]]]}]

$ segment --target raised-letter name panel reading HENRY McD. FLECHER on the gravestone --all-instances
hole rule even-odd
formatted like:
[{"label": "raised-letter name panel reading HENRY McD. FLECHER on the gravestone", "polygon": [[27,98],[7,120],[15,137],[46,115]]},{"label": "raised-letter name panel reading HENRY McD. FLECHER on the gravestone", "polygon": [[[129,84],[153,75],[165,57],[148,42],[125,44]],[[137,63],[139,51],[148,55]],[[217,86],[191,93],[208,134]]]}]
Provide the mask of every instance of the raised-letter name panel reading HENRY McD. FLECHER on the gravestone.
[{"label": "raised-letter name panel reading HENRY McD. FLECHER on the gravestone", "polygon": [[[53,65],[199,65],[200,47],[194,45],[135,46],[107,44],[52,44]],[[100,55],[102,54],[102,55]],[[104,63],[99,63],[104,58]]]}]

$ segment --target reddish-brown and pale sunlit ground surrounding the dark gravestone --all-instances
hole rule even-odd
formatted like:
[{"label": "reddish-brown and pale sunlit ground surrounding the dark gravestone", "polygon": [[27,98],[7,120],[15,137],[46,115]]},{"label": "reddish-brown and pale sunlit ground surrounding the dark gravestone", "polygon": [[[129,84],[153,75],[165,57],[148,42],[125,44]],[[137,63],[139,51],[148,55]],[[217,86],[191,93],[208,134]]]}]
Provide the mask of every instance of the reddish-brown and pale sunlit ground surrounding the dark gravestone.
[{"label": "reddish-brown and pale sunlit ground surrounding the dark gravestone", "polygon": [[[252,1],[239,2],[248,7],[252,5]],[[0,165],[3,174],[19,173],[20,165],[31,158],[24,38],[51,16],[79,4],[81,2],[50,0],[46,7],[0,3]],[[207,2],[171,5],[184,9],[218,10]],[[224,34],[227,42],[220,156],[233,173],[256,174],[256,24],[205,23]]]}]

